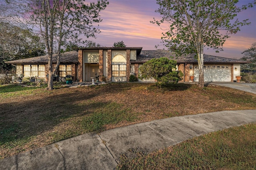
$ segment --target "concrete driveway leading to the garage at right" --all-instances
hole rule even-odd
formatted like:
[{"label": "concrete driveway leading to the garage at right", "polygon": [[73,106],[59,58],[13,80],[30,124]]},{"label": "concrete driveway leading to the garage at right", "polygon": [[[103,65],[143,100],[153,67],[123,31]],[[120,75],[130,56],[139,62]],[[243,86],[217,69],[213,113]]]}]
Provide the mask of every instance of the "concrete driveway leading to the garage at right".
[{"label": "concrete driveway leading to the garage at right", "polygon": [[256,83],[208,82],[206,84],[225,86],[225,87],[243,90],[245,92],[250,92],[250,93],[256,94]]}]

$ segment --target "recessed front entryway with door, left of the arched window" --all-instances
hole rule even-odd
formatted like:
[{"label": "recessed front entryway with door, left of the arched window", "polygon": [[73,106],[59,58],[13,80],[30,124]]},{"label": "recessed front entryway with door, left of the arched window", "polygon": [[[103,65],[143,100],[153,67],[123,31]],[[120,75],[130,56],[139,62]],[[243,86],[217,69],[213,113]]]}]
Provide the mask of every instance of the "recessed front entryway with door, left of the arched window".
[{"label": "recessed front entryway with door, left of the arched window", "polygon": [[[92,81],[91,77],[96,77],[99,75],[99,64],[84,64],[84,80]],[[96,80],[96,79],[95,79]]]}]

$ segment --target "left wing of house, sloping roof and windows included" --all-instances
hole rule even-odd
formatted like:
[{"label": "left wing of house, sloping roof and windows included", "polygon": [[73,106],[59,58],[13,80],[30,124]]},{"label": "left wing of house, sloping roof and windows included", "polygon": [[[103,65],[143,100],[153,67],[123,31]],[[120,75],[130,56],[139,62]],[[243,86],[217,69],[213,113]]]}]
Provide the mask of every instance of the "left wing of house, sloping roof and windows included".
[{"label": "left wing of house, sloping roof and windows included", "polygon": [[[28,59],[20,59],[14,61],[8,61],[5,63],[16,65],[16,74],[24,74],[24,77],[36,76],[38,78],[44,78],[47,80],[48,74],[48,55],[40,57],[32,57]],[[52,56],[53,68],[57,63],[57,55]],[[56,76],[65,77],[66,75],[72,75],[76,80],[78,67],[78,53],[77,51],[70,51],[62,53],[60,57],[60,65],[56,72]]]}]

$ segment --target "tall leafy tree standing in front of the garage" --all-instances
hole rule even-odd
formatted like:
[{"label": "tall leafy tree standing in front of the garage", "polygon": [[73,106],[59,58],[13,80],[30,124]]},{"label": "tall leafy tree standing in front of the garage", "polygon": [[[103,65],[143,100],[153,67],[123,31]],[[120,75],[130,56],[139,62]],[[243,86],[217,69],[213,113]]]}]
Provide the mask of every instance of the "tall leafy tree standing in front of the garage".
[{"label": "tall leafy tree standing in front of the garage", "polygon": [[170,23],[162,37],[162,43],[177,56],[196,53],[199,66],[200,87],[204,87],[204,47],[223,50],[230,34],[248,25],[248,20],[239,21],[236,15],[252,4],[238,7],[238,0],[157,0],[162,20],[151,21],[161,25]]}]

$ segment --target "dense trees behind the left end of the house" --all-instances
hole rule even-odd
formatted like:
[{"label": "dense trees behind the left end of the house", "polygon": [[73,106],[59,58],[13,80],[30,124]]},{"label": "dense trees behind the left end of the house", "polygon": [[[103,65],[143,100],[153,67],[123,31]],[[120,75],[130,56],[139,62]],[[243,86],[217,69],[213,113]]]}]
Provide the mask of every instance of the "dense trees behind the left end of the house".
[{"label": "dense trees behind the left end of the house", "polygon": [[11,64],[5,61],[45,55],[45,46],[40,37],[28,29],[0,22],[0,72],[10,72]]}]

